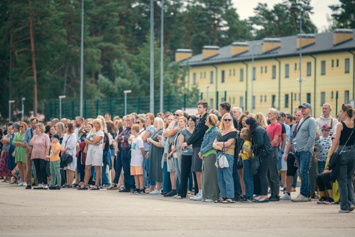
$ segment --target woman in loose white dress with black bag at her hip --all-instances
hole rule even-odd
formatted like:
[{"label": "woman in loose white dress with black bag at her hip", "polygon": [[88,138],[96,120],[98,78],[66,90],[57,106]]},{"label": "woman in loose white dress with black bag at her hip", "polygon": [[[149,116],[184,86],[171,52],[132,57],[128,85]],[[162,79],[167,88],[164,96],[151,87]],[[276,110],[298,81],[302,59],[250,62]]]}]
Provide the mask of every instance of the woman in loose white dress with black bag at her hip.
[{"label": "woman in loose white dress with black bag at her hip", "polygon": [[64,167],[66,170],[66,185],[65,188],[72,188],[74,180],[74,172],[77,168],[77,159],[75,155],[77,154],[77,136],[74,133],[74,127],[72,123],[67,123],[64,126],[65,134],[63,137],[63,142],[61,144],[62,154],[67,153],[73,156],[73,161]]}]

